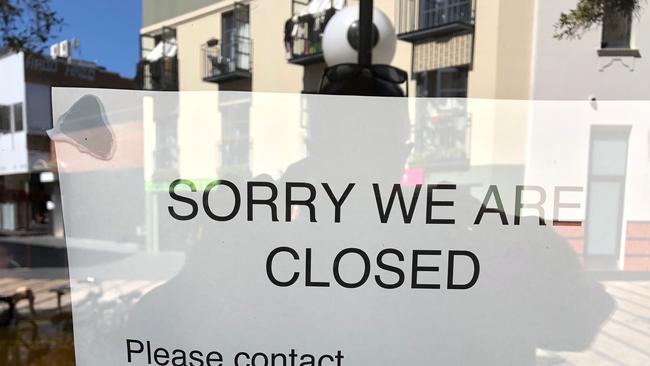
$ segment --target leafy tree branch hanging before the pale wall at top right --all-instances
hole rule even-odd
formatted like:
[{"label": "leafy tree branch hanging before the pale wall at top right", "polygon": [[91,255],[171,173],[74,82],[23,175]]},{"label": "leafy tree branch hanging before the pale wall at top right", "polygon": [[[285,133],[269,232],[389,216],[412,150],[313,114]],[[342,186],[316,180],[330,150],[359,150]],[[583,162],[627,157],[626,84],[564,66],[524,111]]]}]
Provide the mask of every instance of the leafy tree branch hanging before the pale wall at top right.
[{"label": "leafy tree branch hanging before the pale wall at top right", "polygon": [[555,38],[572,39],[580,36],[592,26],[602,24],[609,12],[635,14],[642,0],[578,0],[574,9],[560,14],[555,23]]}]

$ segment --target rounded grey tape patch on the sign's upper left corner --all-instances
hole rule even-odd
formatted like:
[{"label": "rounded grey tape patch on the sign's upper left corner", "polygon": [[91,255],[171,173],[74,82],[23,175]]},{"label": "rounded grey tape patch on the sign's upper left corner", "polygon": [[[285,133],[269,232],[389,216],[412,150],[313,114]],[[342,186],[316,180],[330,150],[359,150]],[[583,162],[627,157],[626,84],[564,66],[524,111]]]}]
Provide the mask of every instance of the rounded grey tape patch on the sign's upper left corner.
[{"label": "rounded grey tape patch on the sign's upper left corner", "polygon": [[47,130],[47,135],[52,141],[72,144],[97,159],[110,160],[115,153],[115,134],[104,105],[92,94],[79,98]]}]

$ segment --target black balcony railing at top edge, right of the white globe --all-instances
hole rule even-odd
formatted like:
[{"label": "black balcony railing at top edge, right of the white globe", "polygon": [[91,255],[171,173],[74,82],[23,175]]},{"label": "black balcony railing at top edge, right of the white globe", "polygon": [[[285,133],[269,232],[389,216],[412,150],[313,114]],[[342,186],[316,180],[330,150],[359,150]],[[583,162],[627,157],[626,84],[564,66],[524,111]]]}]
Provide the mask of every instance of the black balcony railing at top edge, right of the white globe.
[{"label": "black balcony railing at top edge, right of the white globe", "polygon": [[400,38],[409,40],[409,35],[417,33],[448,34],[468,29],[474,19],[472,2],[473,0],[399,0],[397,33]]}]

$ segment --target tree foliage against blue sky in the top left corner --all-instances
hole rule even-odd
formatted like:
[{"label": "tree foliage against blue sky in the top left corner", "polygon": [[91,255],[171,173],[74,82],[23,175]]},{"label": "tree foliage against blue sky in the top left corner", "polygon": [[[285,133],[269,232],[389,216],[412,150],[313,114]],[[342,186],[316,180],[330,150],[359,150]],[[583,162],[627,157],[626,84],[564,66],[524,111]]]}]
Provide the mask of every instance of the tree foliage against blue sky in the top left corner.
[{"label": "tree foliage against blue sky in the top left corner", "polygon": [[50,0],[0,0],[1,48],[39,52],[62,24]]}]

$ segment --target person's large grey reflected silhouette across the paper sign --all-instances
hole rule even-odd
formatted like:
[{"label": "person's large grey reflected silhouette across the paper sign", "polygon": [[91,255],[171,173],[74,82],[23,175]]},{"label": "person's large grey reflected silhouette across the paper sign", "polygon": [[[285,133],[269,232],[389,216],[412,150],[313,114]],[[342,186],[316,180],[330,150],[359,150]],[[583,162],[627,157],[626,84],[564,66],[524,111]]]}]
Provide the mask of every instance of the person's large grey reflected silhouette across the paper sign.
[{"label": "person's large grey reflected silhouette across the paper sign", "polygon": [[[508,216],[504,225],[500,213],[493,212],[474,224],[482,202],[461,185],[434,193],[454,204],[434,207],[432,214],[453,218],[453,225],[426,223],[426,186],[410,223],[405,224],[399,207],[393,207],[387,223],[380,223],[372,185],[387,197],[399,183],[411,150],[407,104],[400,98],[319,98],[308,100],[307,157],[290,165],[277,182],[256,178],[280,187],[274,200],[277,216],[285,218],[289,209],[291,221],[273,221],[268,205],[254,207],[253,221],[246,215],[227,222],[206,215],[185,223],[163,218],[161,225],[191,230],[192,247],[182,271],[137,304],[128,334],[154,343],[219,347],[228,354],[243,348],[341,350],[349,364],[357,365],[532,365],[536,349],[578,351],[590,344],[614,303],[564,239],[540,226],[537,217],[513,225]],[[352,102],[355,108],[347,108]],[[221,178],[246,192],[245,178]],[[313,210],[282,204],[284,187],[291,182],[317,187]],[[339,197],[355,183],[340,222],[334,220],[322,183]],[[522,184],[509,183],[500,188]],[[401,188],[410,202],[416,187]],[[264,190],[257,194],[271,196]],[[308,200],[310,192],[293,194],[295,200]],[[200,190],[183,196],[199,204],[206,197]],[[232,200],[232,191],[223,186],[207,195],[210,207],[222,208],[221,215]],[[172,199],[164,202],[167,206],[181,207]],[[265,273],[269,253],[281,246],[298,255],[285,253],[272,263],[283,281],[297,274],[286,287],[272,284]],[[371,260],[369,280],[357,288],[337,284],[336,276],[347,283],[364,276],[362,256],[334,260],[346,248]],[[395,250],[385,259],[399,271],[375,263],[383,249]],[[453,250],[469,251],[480,261],[471,288],[445,287],[450,271],[446,258]],[[415,258],[422,251],[429,255]],[[432,254],[436,251],[440,256]],[[430,270],[421,270],[425,267]],[[469,262],[457,263],[454,270],[459,282],[471,277]],[[404,276],[400,286],[376,285],[375,276],[398,283],[399,273]]]}]

